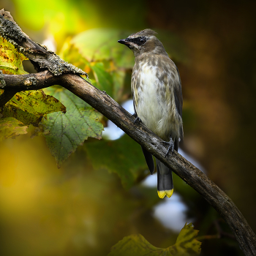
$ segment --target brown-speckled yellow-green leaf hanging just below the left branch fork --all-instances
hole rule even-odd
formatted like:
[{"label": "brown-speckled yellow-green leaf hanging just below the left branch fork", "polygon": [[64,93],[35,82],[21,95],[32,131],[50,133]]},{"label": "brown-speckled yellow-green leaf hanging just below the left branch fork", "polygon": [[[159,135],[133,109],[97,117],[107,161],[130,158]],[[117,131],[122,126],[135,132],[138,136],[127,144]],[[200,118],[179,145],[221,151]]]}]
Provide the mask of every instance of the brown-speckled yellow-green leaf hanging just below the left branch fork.
[{"label": "brown-speckled yellow-green leaf hanging just below the left branch fork", "polygon": [[44,91],[20,91],[4,105],[2,114],[12,116],[23,124],[38,126],[42,116],[48,113],[66,111],[58,99],[46,95]]}]

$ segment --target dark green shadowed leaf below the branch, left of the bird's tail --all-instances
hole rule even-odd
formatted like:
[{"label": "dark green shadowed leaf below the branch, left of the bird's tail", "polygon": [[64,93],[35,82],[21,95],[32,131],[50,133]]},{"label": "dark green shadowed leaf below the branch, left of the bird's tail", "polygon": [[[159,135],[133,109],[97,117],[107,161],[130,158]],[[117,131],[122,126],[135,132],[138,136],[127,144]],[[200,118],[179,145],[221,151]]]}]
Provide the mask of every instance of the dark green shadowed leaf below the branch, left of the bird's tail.
[{"label": "dark green shadowed leaf below the branch, left of the bird's tail", "polygon": [[110,173],[117,173],[122,185],[127,189],[132,187],[147,169],[140,145],[128,135],[118,140],[86,143],[85,147],[94,169],[103,167]]}]

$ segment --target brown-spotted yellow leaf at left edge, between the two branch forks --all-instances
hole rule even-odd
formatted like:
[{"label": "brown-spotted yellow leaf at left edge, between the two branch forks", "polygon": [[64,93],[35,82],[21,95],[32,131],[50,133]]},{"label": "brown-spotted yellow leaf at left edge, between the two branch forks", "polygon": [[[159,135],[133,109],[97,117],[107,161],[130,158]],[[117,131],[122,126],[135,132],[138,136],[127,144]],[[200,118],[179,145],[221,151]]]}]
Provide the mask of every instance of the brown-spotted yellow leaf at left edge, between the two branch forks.
[{"label": "brown-spotted yellow leaf at left edge, between the two branch forks", "polygon": [[26,57],[19,53],[14,45],[0,37],[0,69],[3,73],[11,75],[28,74],[23,69],[23,60],[26,60]]}]

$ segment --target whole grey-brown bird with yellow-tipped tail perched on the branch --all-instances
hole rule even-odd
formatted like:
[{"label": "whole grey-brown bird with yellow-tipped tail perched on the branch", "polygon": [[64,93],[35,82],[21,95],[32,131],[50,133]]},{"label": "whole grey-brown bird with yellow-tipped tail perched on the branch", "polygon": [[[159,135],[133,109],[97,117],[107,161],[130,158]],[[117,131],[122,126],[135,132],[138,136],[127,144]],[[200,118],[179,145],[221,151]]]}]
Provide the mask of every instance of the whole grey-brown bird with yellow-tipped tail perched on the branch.
[{"label": "whole grey-brown bird with yellow-tipped tail perched on the branch", "polygon": [[[132,69],[132,99],[135,123],[141,121],[168,145],[167,153],[178,151],[184,137],[182,123],[183,97],[181,78],[176,64],[168,56],[157,32],[144,29],[118,40],[135,56]],[[150,173],[154,173],[152,155],[142,147]],[[172,170],[159,159],[157,163],[157,193],[160,198],[173,195]]]}]

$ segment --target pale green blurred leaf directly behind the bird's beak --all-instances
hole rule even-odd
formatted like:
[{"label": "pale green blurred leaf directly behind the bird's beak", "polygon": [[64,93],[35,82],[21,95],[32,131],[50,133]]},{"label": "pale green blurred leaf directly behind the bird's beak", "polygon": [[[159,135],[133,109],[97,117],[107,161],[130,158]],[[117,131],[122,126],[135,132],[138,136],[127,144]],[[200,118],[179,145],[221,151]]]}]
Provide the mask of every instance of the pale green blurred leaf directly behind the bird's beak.
[{"label": "pale green blurred leaf directly behind the bird's beak", "polygon": [[132,69],[132,51],[117,42],[129,34],[132,32],[121,29],[90,29],[78,34],[71,42],[89,62],[113,60],[117,67]]}]

